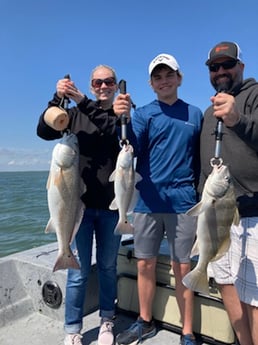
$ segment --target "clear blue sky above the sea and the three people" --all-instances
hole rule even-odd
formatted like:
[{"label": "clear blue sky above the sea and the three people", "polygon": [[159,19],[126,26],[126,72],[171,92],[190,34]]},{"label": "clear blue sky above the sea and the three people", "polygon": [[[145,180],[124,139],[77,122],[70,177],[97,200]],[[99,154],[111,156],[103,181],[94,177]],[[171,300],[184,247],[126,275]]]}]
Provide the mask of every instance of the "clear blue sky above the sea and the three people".
[{"label": "clear blue sky above the sea and the three people", "polygon": [[91,70],[115,68],[134,103],[155,97],[149,62],[172,54],[184,73],[179,97],[203,111],[213,95],[210,48],[237,42],[245,77],[258,79],[257,0],[1,0],[0,171],[48,170],[56,142],[36,136],[56,82],[70,73],[89,92]]}]

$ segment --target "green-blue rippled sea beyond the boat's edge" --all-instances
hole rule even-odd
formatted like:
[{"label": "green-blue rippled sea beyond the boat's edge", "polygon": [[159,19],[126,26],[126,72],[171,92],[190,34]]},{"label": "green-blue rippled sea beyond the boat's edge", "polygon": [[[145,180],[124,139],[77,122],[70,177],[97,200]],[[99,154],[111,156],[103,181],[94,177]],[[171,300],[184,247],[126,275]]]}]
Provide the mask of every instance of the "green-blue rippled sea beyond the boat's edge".
[{"label": "green-blue rippled sea beyond the boat's edge", "polygon": [[48,171],[0,172],[0,257],[56,241],[49,219]]}]

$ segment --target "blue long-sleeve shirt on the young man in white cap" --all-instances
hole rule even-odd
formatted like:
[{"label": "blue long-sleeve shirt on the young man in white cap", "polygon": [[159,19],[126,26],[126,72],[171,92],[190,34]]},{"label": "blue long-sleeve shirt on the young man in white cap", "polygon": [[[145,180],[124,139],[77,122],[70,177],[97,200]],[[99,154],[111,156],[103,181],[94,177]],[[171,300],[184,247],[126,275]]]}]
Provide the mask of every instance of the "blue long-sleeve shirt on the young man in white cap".
[{"label": "blue long-sleeve shirt on the young man in white cap", "polygon": [[135,212],[184,213],[196,204],[199,179],[199,138],[203,114],[178,99],[158,100],[132,116],[136,137],[139,199]]}]

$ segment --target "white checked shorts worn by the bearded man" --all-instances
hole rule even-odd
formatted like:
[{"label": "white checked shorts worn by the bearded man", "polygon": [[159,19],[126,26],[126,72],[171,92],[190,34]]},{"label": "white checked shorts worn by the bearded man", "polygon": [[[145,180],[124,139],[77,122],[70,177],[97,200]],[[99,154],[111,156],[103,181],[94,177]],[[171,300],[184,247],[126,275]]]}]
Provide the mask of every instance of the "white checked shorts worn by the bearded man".
[{"label": "white checked shorts worn by the bearded man", "polygon": [[258,307],[258,217],[231,227],[228,253],[210,264],[218,284],[234,283],[242,302]]}]

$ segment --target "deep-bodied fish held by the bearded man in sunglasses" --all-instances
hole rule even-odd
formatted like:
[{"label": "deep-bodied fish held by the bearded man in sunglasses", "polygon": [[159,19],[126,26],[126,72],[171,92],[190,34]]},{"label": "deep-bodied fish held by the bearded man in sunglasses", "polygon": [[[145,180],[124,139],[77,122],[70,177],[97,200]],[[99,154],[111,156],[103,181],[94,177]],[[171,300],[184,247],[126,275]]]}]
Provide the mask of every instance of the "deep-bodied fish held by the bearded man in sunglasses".
[{"label": "deep-bodied fish held by the bearded man in sunglasses", "polygon": [[193,291],[209,294],[208,264],[226,254],[230,246],[231,225],[239,224],[240,219],[228,166],[213,166],[200,202],[186,214],[198,217],[196,241],[191,252],[191,256],[197,255],[198,260],[182,282]]}]

